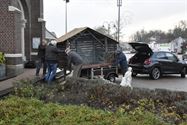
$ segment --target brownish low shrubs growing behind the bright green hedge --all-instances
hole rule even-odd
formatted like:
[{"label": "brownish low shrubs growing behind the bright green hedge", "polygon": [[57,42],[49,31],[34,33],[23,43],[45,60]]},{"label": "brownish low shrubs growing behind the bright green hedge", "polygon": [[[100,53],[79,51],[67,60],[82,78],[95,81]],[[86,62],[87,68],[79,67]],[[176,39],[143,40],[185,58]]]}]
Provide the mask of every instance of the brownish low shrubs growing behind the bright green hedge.
[{"label": "brownish low shrubs growing behind the bright green hedge", "polygon": [[[120,117],[119,124],[116,125],[126,123],[136,125],[135,123],[139,120],[142,125],[148,125],[149,121],[153,123],[160,119],[169,124],[187,123],[187,93],[185,92],[140,88],[131,90],[127,87],[105,83],[99,79],[71,78],[64,83],[54,83],[51,86],[43,83],[33,84],[27,80],[20,81],[15,86],[14,94],[19,97],[34,97],[45,102],[84,104],[112,111],[117,118]],[[121,118],[126,115],[127,117]]]}]

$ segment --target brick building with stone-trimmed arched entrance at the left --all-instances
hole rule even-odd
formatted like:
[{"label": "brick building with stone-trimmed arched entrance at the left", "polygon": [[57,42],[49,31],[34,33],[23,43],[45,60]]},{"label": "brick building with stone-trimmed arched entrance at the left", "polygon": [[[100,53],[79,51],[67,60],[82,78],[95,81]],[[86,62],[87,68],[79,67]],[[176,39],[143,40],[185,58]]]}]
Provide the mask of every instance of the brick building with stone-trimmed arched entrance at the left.
[{"label": "brick building with stone-trimmed arched entrance at the left", "polygon": [[0,0],[0,51],[5,53],[7,76],[23,72],[45,37],[43,0]]}]

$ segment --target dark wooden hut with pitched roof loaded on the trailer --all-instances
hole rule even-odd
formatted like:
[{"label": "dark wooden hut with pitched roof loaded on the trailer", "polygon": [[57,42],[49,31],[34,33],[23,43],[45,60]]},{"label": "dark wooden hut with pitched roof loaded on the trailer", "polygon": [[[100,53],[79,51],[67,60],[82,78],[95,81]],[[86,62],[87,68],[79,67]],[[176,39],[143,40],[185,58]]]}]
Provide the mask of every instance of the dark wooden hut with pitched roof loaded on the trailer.
[{"label": "dark wooden hut with pitched roof loaded on the trailer", "polygon": [[89,27],[75,28],[57,39],[57,47],[65,49],[70,45],[86,64],[105,63],[106,55],[115,52],[118,42]]}]

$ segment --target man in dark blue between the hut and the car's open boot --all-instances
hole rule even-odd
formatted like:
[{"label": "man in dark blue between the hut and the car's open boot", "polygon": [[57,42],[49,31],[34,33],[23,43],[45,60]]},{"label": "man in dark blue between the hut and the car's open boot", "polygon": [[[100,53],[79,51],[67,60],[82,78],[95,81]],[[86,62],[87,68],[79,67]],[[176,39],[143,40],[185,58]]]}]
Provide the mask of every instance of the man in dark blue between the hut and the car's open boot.
[{"label": "man in dark blue between the hut and the car's open boot", "polygon": [[118,65],[118,64],[120,65],[121,73],[124,76],[128,69],[128,64],[127,64],[127,58],[125,54],[123,53],[121,47],[118,47],[116,50],[116,60],[115,60],[114,65]]}]

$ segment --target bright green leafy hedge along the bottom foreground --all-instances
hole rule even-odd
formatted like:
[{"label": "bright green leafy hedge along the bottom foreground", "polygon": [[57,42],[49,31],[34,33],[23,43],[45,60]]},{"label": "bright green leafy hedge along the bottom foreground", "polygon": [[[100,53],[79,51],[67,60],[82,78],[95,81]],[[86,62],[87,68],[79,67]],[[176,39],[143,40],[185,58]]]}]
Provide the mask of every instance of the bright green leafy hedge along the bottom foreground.
[{"label": "bright green leafy hedge along the bottom foreground", "polygon": [[16,96],[0,101],[0,125],[166,125],[150,112],[109,112],[84,105],[45,104]]}]

